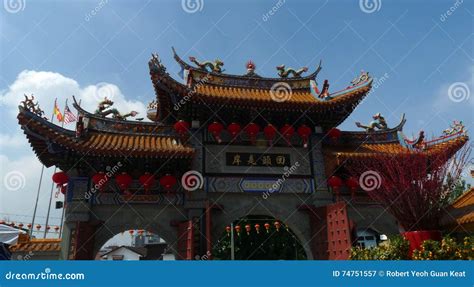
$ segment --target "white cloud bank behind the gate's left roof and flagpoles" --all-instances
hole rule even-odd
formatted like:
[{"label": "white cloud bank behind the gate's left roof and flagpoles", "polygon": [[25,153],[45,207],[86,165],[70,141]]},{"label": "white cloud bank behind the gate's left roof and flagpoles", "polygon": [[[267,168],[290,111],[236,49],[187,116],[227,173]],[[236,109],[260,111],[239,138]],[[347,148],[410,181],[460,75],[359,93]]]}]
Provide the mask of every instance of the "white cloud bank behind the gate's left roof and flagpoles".
[{"label": "white cloud bank behind the gate's left roof and flagpoles", "polygon": [[[0,109],[2,125],[0,126],[0,220],[9,219],[15,222],[29,222],[33,214],[34,201],[41,173],[41,163],[31,150],[26,137],[18,127],[16,115],[18,105],[24,100],[24,94],[35,96],[45,116],[50,117],[54,99],[64,108],[66,98],[72,107],[72,95],[81,100],[81,106],[94,112],[97,103],[107,96],[114,101],[114,107],[120,112],[131,110],[139,112],[138,117],[146,117],[145,105],[141,102],[126,99],[119,87],[110,83],[81,86],[71,78],[47,71],[22,71],[15,81],[5,90],[0,91]],[[74,129],[74,124],[66,128]],[[41,188],[38,207],[38,223],[44,224],[47,212],[53,167],[46,169]],[[53,191],[54,192],[54,191]],[[62,195],[60,195],[62,196]],[[56,199],[53,198],[53,205]],[[61,210],[51,208],[51,225],[59,224]]]}]

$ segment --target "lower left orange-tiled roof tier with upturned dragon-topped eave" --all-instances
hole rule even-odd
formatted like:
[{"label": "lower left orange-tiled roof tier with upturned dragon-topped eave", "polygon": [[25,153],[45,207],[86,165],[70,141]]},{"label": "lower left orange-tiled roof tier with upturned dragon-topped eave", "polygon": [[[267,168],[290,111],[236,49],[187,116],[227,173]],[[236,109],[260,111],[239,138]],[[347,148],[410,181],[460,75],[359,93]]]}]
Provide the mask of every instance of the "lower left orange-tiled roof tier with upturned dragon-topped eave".
[{"label": "lower left orange-tiled roof tier with upturned dragon-topped eave", "polygon": [[[144,132],[114,131],[87,127],[81,138],[74,131],[48,122],[20,106],[18,122],[34,152],[47,167],[58,164],[65,154],[79,156],[190,158],[194,149],[184,146],[172,135]],[[108,119],[110,120],[110,119]],[[120,128],[119,128],[120,129]]]}]

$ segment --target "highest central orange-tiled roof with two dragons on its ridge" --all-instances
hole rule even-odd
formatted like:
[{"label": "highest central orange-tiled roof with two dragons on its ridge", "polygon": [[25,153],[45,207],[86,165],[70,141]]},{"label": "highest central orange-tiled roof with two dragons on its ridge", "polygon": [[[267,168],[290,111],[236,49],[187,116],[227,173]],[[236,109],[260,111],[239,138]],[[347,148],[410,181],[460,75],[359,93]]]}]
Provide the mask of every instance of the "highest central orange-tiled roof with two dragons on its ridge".
[{"label": "highest central orange-tiled roof with two dragons on its ridge", "polygon": [[[301,69],[299,72],[286,69],[286,72],[291,70],[296,74],[293,77],[265,78],[250,72],[245,75],[229,75],[209,70],[194,58],[199,66],[193,66],[182,60],[175,51],[174,57],[183,69],[181,75],[185,84],[170,76],[157,55],[153,55],[149,61],[161,119],[170,115],[174,115],[174,119],[179,118],[176,115],[176,105],[189,102],[196,105],[226,105],[244,110],[260,107],[277,115],[300,115],[304,112],[312,122],[329,129],[339,125],[351,114],[368,94],[373,82],[368,73],[362,73],[340,91],[330,92],[327,80],[320,91],[316,77],[321,65],[305,77],[300,75],[303,72]],[[211,62],[203,63],[210,67],[215,65]]]}]

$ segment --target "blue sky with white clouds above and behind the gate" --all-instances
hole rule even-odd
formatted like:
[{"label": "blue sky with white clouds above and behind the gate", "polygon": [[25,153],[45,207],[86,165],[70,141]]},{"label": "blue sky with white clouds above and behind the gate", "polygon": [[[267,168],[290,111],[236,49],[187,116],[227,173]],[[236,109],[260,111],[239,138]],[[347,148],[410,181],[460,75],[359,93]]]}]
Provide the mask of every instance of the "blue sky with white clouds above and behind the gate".
[{"label": "blue sky with white clouds above and behind the gate", "polygon": [[[332,91],[368,71],[378,85],[343,130],[357,130],[355,122],[367,123],[377,112],[389,126],[405,113],[407,135],[439,136],[453,120],[468,130],[474,123],[473,1],[3,2],[0,220],[31,220],[40,177],[41,164],[16,120],[23,95],[33,94],[48,116],[55,98],[63,108],[72,95],[91,111],[108,96],[120,111],[145,116],[156,97],[151,53],[179,79],[172,46],[186,59],[219,58],[231,74],[244,74],[248,60],[268,77],[277,76],[277,65],[312,71],[322,60],[318,82],[328,79]],[[52,172],[45,170],[41,187],[43,225]],[[60,217],[53,206],[50,225]]]}]

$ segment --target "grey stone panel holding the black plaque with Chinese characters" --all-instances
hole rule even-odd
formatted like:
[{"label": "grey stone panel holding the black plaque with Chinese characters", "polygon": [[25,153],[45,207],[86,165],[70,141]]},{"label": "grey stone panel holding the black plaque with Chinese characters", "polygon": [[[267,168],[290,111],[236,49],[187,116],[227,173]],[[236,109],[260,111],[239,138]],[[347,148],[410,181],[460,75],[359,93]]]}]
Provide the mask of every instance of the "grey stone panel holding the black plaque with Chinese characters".
[{"label": "grey stone panel holding the black plaque with Chinese characters", "polygon": [[304,148],[236,145],[207,145],[203,157],[206,173],[281,175],[297,163],[296,176],[311,176],[310,158]]}]

